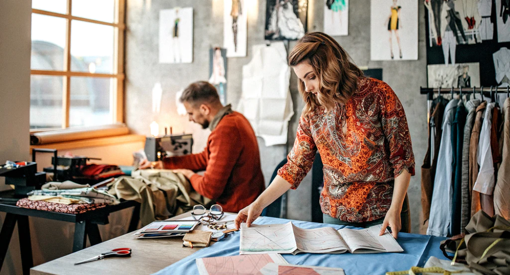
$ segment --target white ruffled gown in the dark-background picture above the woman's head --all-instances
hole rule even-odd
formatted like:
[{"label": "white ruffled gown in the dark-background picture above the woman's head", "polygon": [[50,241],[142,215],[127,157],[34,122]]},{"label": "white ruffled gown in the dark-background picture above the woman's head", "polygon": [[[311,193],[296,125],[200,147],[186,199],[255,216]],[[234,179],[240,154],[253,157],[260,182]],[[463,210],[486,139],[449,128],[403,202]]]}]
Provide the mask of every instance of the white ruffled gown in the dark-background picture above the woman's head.
[{"label": "white ruffled gown in the dark-background picture above the woman's head", "polygon": [[299,39],[304,36],[301,20],[294,13],[291,0],[276,0],[271,12],[266,35],[272,34],[272,39]]}]

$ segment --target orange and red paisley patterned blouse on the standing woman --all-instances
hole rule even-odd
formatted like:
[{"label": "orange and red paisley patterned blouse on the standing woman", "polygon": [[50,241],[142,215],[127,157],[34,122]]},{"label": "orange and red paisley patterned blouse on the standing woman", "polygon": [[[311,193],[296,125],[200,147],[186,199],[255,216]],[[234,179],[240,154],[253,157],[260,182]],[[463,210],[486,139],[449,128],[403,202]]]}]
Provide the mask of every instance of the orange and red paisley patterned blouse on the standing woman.
[{"label": "orange and red paisley patterned blouse on the standing woman", "polygon": [[[341,118],[347,124],[346,135]],[[294,147],[278,175],[297,188],[312,168],[317,150],[324,164],[322,212],[343,221],[384,217],[394,178],[404,169],[415,173],[402,104],[388,84],[371,78],[358,82],[345,105],[301,115]]]}]

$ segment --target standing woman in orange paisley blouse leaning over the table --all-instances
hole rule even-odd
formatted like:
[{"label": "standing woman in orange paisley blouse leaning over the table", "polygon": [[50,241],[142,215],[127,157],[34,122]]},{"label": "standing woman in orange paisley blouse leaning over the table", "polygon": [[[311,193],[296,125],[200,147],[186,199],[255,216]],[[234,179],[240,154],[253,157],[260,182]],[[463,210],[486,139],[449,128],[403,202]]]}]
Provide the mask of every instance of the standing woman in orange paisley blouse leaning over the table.
[{"label": "standing woman in orange paisley blouse leaning over the table", "polygon": [[400,211],[414,174],[404,110],[388,84],[363,76],[330,36],[309,33],[289,65],[305,107],[288,162],[269,187],[236,217],[249,227],[262,210],[298,187],[319,151],[324,164],[320,204],[325,223],[368,227],[382,223],[396,238]]}]

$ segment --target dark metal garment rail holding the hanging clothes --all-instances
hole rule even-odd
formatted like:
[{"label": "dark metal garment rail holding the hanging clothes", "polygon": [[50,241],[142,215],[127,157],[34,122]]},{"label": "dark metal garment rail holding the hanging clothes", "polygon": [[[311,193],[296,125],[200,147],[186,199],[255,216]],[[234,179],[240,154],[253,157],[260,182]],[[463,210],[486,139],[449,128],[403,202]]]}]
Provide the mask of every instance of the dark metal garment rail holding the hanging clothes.
[{"label": "dark metal garment rail holding the hanging clothes", "polygon": [[[434,99],[434,94],[441,95],[451,95],[453,98],[454,94],[458,94],[459,97],[462,97],[463,94],[472,94],[474,98],[477,98],[477,94],[480,94],[480,99],[483,99],[483,96],[491,98],[491,101],[498,101],[498,97],[496,94],[506,93],[507,97],[510,97],[510,87],[472,87],[472,88],[423,88],[420,87],[420,94],[427,95],[427,127],[428,133],[430,134],[430,110],[432,109],[432,102]],[[433,142],[433,139],[431,139]],[[434,159],[434,149],[433,143],[431,143],[430,148],[430,162]]]}]

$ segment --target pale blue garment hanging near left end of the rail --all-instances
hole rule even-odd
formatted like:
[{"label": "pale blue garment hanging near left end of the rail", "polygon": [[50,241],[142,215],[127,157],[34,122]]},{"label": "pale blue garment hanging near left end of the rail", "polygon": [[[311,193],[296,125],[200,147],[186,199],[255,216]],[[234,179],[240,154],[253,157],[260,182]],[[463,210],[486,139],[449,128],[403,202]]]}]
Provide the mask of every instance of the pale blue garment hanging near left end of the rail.
[{"label": "pale blue garment hanging near left end of the rail", "polygon": [[427,235],[446,237],[450,232],[450,219],[452,210],[452,144],[451,126],[454,119],[458,99],[452,99],[445,108],[443,133],[438,154],[432,203],[430,206],[430,219],[428,221]]}]

